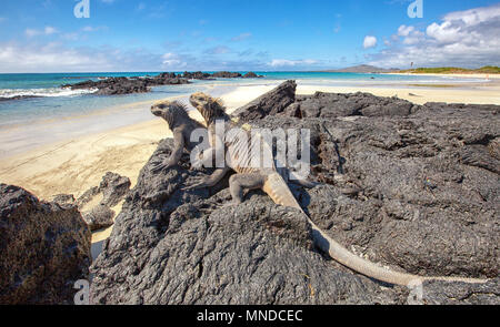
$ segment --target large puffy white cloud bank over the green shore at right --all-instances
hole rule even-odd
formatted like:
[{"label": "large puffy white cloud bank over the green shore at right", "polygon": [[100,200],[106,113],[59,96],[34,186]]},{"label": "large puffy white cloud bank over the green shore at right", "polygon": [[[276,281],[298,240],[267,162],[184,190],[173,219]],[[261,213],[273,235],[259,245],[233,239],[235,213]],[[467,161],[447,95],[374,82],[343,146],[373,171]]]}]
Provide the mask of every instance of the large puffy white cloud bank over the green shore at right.
[{"label": "large puffy white cloud bank over the green shore at right", "polygon": [[389,48],[370,57],[379,67],[500,65],[500,3],[446,14],[419,30],[401,25]]}]

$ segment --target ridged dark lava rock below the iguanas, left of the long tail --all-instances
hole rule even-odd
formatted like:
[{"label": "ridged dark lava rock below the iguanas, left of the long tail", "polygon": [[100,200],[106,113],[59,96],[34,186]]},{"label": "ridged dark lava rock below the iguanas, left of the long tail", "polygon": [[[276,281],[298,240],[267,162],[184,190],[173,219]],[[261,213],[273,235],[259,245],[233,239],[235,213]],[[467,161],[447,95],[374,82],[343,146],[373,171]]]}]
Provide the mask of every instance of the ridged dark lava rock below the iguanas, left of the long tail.
[{"label": "ridged dark lava rock below the iguanas, left of the long tail", "polygon": [[[312,251],[299,212],[253,194],[222,207],[229,192],[180,188],[194,175],[182,166],[151,173],[172,149],[163,141],[141,171],[93,265],[96,304],[333,304],[398,303],[366,277]],[[337,282],[336,282],[337,280]]]}]

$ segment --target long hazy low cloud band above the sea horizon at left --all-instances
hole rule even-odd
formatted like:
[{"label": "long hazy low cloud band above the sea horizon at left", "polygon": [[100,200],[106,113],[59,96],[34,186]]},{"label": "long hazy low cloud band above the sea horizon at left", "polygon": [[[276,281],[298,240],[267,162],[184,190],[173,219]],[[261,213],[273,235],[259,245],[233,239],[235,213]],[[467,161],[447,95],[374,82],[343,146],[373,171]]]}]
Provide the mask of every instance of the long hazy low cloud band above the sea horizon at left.
[{"label": "long hazy low cloud band above the sea horizon at left", "polygon": [[109,45],[70,48],[58,42],[47,45],[0,42],[0,72],[259,71],[269,69],[269,64],[262,61],[264,59],[257,59],[258,57],[259,54],[256,54],[254,59],[239,58],[221,61],[218,57],[203,54],[194,57],[176,52],[158,54],[141,48],[124,50]]}]

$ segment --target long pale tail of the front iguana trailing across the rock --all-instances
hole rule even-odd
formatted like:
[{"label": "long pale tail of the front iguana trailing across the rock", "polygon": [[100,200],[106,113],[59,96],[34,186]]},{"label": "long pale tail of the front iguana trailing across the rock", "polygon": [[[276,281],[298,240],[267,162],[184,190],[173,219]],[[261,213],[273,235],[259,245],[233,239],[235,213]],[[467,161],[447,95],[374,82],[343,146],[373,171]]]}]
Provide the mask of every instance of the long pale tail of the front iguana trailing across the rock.
[{"label": "long pale tail of the front iguana trailing across the rock", "polygon": [[464,283],[486,283],[488,279],[474,279],[474,278],[460,278],[460,277],[421,277],[407,273],[398,273],[384,267],[378,266],[367,259],[363,259],[346,247],[337,243],[333,238],[321,231],[303,212],[297,202],[296,197],[291,193],[284,180],[280,174],[274,173],[268,176],[267,182],[262,190],[272,198],[276,204],[294,207],[300,210],[308,218],[312,227],[312,237],[316,246],[318,246],[324,253],[328,253],[330,257],[346,267],[358,272],[364,276],[382,280],[389,284],[411,286],[420,284],[423,280],[448,280],[448,282],[464,282]]}]

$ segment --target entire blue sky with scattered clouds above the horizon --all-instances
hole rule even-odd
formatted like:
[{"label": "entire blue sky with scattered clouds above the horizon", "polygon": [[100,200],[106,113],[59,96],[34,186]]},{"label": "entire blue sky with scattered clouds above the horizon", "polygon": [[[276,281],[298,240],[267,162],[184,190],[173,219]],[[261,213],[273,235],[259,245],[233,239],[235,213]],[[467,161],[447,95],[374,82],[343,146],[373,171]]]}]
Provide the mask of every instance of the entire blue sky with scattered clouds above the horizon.
[{"label": "entire blue sky with scattered clouds above the horizon", "polygon": [[0,72],[500,64],[500,2],[2,0]]}]

